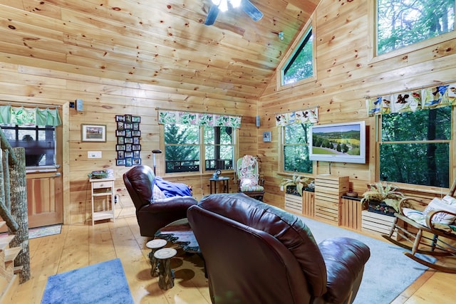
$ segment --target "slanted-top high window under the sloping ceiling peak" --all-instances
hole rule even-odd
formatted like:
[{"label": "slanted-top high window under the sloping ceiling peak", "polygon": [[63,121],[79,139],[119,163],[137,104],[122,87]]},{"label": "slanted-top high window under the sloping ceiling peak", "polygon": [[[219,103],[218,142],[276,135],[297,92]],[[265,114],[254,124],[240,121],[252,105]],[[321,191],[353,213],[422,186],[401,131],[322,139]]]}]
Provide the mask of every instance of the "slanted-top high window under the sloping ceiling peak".
[{"label": "slanted-top high window under the sloping ceiling peak", "polygon": [[292,53],[288,63],[281,69],[282,85],[296,83],[314,75],[314,47],[312,28],[306,32],[299,47]]}]

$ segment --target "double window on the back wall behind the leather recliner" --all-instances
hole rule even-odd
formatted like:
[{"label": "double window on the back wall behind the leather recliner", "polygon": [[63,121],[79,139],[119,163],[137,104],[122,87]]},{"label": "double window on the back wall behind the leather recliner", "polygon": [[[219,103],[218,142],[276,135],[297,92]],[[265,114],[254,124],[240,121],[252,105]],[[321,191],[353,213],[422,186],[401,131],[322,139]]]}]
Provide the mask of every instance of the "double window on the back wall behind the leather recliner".
[{"label": "double window on the back wall behind the leather recliner", "polygon": [[165,172],[233,169],[233,132],[232,127],[166,124]]}]

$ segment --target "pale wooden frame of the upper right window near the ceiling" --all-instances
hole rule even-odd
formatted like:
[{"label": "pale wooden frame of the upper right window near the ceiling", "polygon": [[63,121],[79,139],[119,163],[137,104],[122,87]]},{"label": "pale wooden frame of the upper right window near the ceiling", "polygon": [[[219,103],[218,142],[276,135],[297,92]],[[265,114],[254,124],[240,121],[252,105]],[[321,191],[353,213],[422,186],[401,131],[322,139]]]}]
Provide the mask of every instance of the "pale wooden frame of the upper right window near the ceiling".
[{"label": "pale wooden frame of the upper right window near the ceiling", "polygon": [[[456,5],[455,5],[455,11],[456,11]],[[455,12],[456,15],[456,12]],[[368,26],[371,31],[371,35],[369,36],[369,44],[368,48],[370,48],[370,51],[368,52],[368,61],[369,63],[376,63],[379,61],[384,61],[390,58],[398,57],[398,56],[404,56],[405,54],[408,53],[415,53],[423,48],[427,48],[430,46],[436,46],[441,43],[445,43],[447,41],[451,41],[456,38],[456,23],[452,31],[448,33],[442,33],[442,35],[435,36],[432,38],[428,38],[426,40],[420,41],[418,43],[413,43],[410,44],[410,46],[404,46],[402,48],[398,48],[395,51],[390,51],[388,53],[383,53],[381,55],[377,54],[377,22],[378,22],[378,14],[377,14],[377,0],[374,0],[371,2],[371,4],[368,6]],[[456,17],[455,17],[456,19]]]}]

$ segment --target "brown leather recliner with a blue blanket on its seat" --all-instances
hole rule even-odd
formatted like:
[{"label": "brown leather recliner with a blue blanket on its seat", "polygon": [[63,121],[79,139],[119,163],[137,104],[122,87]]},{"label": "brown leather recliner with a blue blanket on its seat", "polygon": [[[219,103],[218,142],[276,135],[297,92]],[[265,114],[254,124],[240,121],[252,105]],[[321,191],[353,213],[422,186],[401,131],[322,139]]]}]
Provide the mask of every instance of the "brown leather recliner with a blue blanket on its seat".
[{"label": "brown leather recliner with a blue blanket on its seat", "polygon": [[155,174],[152,168],[138,165],[123,174],[123,182],[136,207],[136,219],[141,236],[154,237],[167,224],[185,219],[188,207],[197,204],[192,196],[153,198]]}]

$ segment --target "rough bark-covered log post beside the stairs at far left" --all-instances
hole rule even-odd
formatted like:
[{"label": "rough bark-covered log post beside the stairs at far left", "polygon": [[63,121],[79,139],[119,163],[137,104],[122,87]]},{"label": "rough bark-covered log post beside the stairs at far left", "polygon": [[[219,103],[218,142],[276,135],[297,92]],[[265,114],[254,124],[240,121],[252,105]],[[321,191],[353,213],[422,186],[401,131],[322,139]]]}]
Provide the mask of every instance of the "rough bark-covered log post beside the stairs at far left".
[{"label": "rough bark-covered log post beside the stairs at far left", "polygon": [[22,266],[19,275],[19,283],[24,283],[30,279],[30,250],[28,248],[28,207],[27,207],[27,181],[26,181],[26,152],[23,147],[13,148],[16,155],[16,164],[9,167],[11,189],[11,215],[19,224],[16,237],[11,241],[11,247],[21,246],[22,251],[14,260],[14,266]]}]

